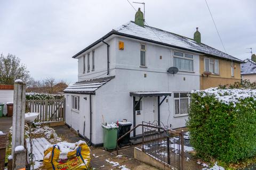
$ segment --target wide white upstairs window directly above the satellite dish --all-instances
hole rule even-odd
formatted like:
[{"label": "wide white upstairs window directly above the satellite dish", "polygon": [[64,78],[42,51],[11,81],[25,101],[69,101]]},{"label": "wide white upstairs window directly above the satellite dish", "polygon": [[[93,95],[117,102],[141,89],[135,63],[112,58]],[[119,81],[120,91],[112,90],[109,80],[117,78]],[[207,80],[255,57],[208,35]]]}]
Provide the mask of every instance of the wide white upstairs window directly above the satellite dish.
[{"label": "wide white upstairs window directly above the satellite dish", "polygon": [[194,56],[174,51],[173,66],[177,67],[180,71],[194,71]]}]

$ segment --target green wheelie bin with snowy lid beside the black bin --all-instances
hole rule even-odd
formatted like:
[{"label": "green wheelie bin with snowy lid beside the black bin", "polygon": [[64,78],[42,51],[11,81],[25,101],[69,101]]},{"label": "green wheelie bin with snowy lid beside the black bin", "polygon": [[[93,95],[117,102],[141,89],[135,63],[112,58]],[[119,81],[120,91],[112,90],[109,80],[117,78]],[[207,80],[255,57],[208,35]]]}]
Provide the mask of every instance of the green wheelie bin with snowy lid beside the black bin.
[{"label": "green wheelie bin with snowy lid beside the black bin", "polygon": [[102,128],[103,128],[103,148],[105,148],[106,150],[115,149],[118,126],[114,128],[110,128],[108,126],[102,125]]}]

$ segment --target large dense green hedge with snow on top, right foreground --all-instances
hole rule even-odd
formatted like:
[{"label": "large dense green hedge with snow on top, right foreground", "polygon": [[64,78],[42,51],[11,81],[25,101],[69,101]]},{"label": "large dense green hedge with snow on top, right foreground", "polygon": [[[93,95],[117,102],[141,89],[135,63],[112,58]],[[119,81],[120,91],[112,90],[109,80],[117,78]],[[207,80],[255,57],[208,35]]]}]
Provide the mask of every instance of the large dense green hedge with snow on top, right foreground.
[{"label": "large dense green hedge with snow on top, right foreground", "polygon": [[256,155],[255,90],[194,91],[187,126],[199,157],[236,163]]}]

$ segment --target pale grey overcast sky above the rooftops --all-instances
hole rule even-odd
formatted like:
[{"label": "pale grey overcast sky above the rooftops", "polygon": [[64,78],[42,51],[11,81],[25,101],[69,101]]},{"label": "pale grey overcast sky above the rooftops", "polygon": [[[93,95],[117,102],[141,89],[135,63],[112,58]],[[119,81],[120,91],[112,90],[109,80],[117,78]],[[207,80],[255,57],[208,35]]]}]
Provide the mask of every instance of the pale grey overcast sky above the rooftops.
[{"label": "pale grey overcast sky above the rooftops", "polygon": [[[143,2],[142,0],[137,0]],[[133,0],[130,0],[133,2]],[[223,51],[205,0],[144,0],[150,26],[193,38]],[[207,0],[227,53],[239,59],[256,52],[256,1]],[[133,4],[135,8],[143,7]],[[0,0],[0,53],[14,54],[36,80],[77,81],[74,54],[110,30],[134,20],[126,0]]]}]

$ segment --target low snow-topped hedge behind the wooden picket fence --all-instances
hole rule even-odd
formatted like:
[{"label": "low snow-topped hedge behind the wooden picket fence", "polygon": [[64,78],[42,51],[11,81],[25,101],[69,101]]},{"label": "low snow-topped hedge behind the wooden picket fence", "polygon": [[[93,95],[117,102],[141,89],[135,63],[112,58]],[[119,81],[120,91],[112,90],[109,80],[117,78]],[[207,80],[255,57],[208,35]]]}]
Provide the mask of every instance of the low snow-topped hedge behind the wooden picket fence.
[{"label": "low snow-topped hedge behind the wooden picket fence", "polygon": [[34,92],[26,93],[26,100],[45,100],[45,99],[62,99],[64,95],[37,94]]}]

